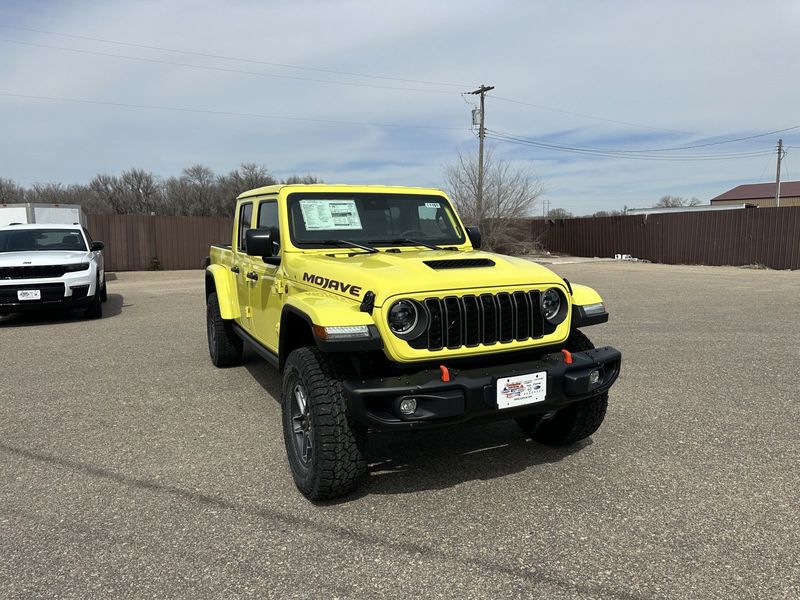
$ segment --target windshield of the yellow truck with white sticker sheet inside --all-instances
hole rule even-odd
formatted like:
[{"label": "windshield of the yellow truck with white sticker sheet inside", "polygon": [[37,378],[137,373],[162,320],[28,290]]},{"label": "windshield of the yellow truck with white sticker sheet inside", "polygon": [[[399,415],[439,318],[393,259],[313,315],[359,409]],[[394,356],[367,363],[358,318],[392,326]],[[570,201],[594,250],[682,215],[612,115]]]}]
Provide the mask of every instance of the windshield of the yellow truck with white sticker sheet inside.
[{"label": "windshield of the yellow truck with white sticker sheet inside", "polygon": [[291,194],[288,207],[292,243],[303,248],[324,247],[331,240],[370,246],[465,241],[450,203],[442,196],[304,192]]}]

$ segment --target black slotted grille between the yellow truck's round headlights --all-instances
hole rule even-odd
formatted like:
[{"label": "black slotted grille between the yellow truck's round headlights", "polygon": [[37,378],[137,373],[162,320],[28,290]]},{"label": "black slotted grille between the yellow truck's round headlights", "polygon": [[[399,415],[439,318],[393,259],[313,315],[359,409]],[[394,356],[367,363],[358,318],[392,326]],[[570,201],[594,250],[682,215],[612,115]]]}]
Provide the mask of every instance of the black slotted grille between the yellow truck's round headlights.
[{"label": "black slotted grille between the yellow truck's round headlights", "polygon": [[416,350],[489,346],[544,335],[536,290],[426,298],[421,304],[428,313],[428,329],[408,342]]}]

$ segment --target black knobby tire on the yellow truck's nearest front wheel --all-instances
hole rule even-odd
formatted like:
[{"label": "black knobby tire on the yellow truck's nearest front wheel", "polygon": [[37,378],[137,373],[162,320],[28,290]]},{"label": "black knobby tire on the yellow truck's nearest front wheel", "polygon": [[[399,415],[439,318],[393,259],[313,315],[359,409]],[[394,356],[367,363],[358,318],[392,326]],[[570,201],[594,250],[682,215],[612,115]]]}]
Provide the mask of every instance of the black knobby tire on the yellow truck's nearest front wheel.
[{"label": "black knobby tire on the yellow truck's nearest front wheel", "polygon": [[[317,348],[298,348],[286,359],[281,407],[286,456],[297,489],[309,500],[327,500],[355,489],[367,469],[366,430],[347,408],[341,378],[344,364]],[[292,415],[296,387],[305,392],[311,452],[303,460],[295,441]]]}]

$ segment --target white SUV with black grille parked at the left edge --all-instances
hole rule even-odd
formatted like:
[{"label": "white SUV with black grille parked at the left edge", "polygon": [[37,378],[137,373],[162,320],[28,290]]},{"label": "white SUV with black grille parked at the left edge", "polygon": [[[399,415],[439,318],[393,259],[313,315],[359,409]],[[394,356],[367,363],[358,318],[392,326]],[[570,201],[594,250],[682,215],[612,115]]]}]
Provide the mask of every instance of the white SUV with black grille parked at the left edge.
[{"label": "white SUV with black grille parked at the left edge", "polygon": [[75,225],[0,227],[0,316],[47,309],[103,315],[103,242]]}]

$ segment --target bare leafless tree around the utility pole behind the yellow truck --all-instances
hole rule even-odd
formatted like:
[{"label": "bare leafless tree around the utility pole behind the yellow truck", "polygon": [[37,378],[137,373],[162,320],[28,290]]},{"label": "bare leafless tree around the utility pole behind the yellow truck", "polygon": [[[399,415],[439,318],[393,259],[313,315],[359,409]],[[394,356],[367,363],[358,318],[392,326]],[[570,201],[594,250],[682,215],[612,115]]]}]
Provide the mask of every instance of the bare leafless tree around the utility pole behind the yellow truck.
[{"label": "bare leafless tree around the utility pole behind the yellow truck", "polygon": [[509,161],[484,152],[483,203],[478,207],[478,155],[459,152],[445,167],[447,191],[461,218],[468,225],[479,225],[487,248],[524,253],[533,241],[520,220],[530,216],[542,195],[541,182],[528,169],[513,167]]}]

